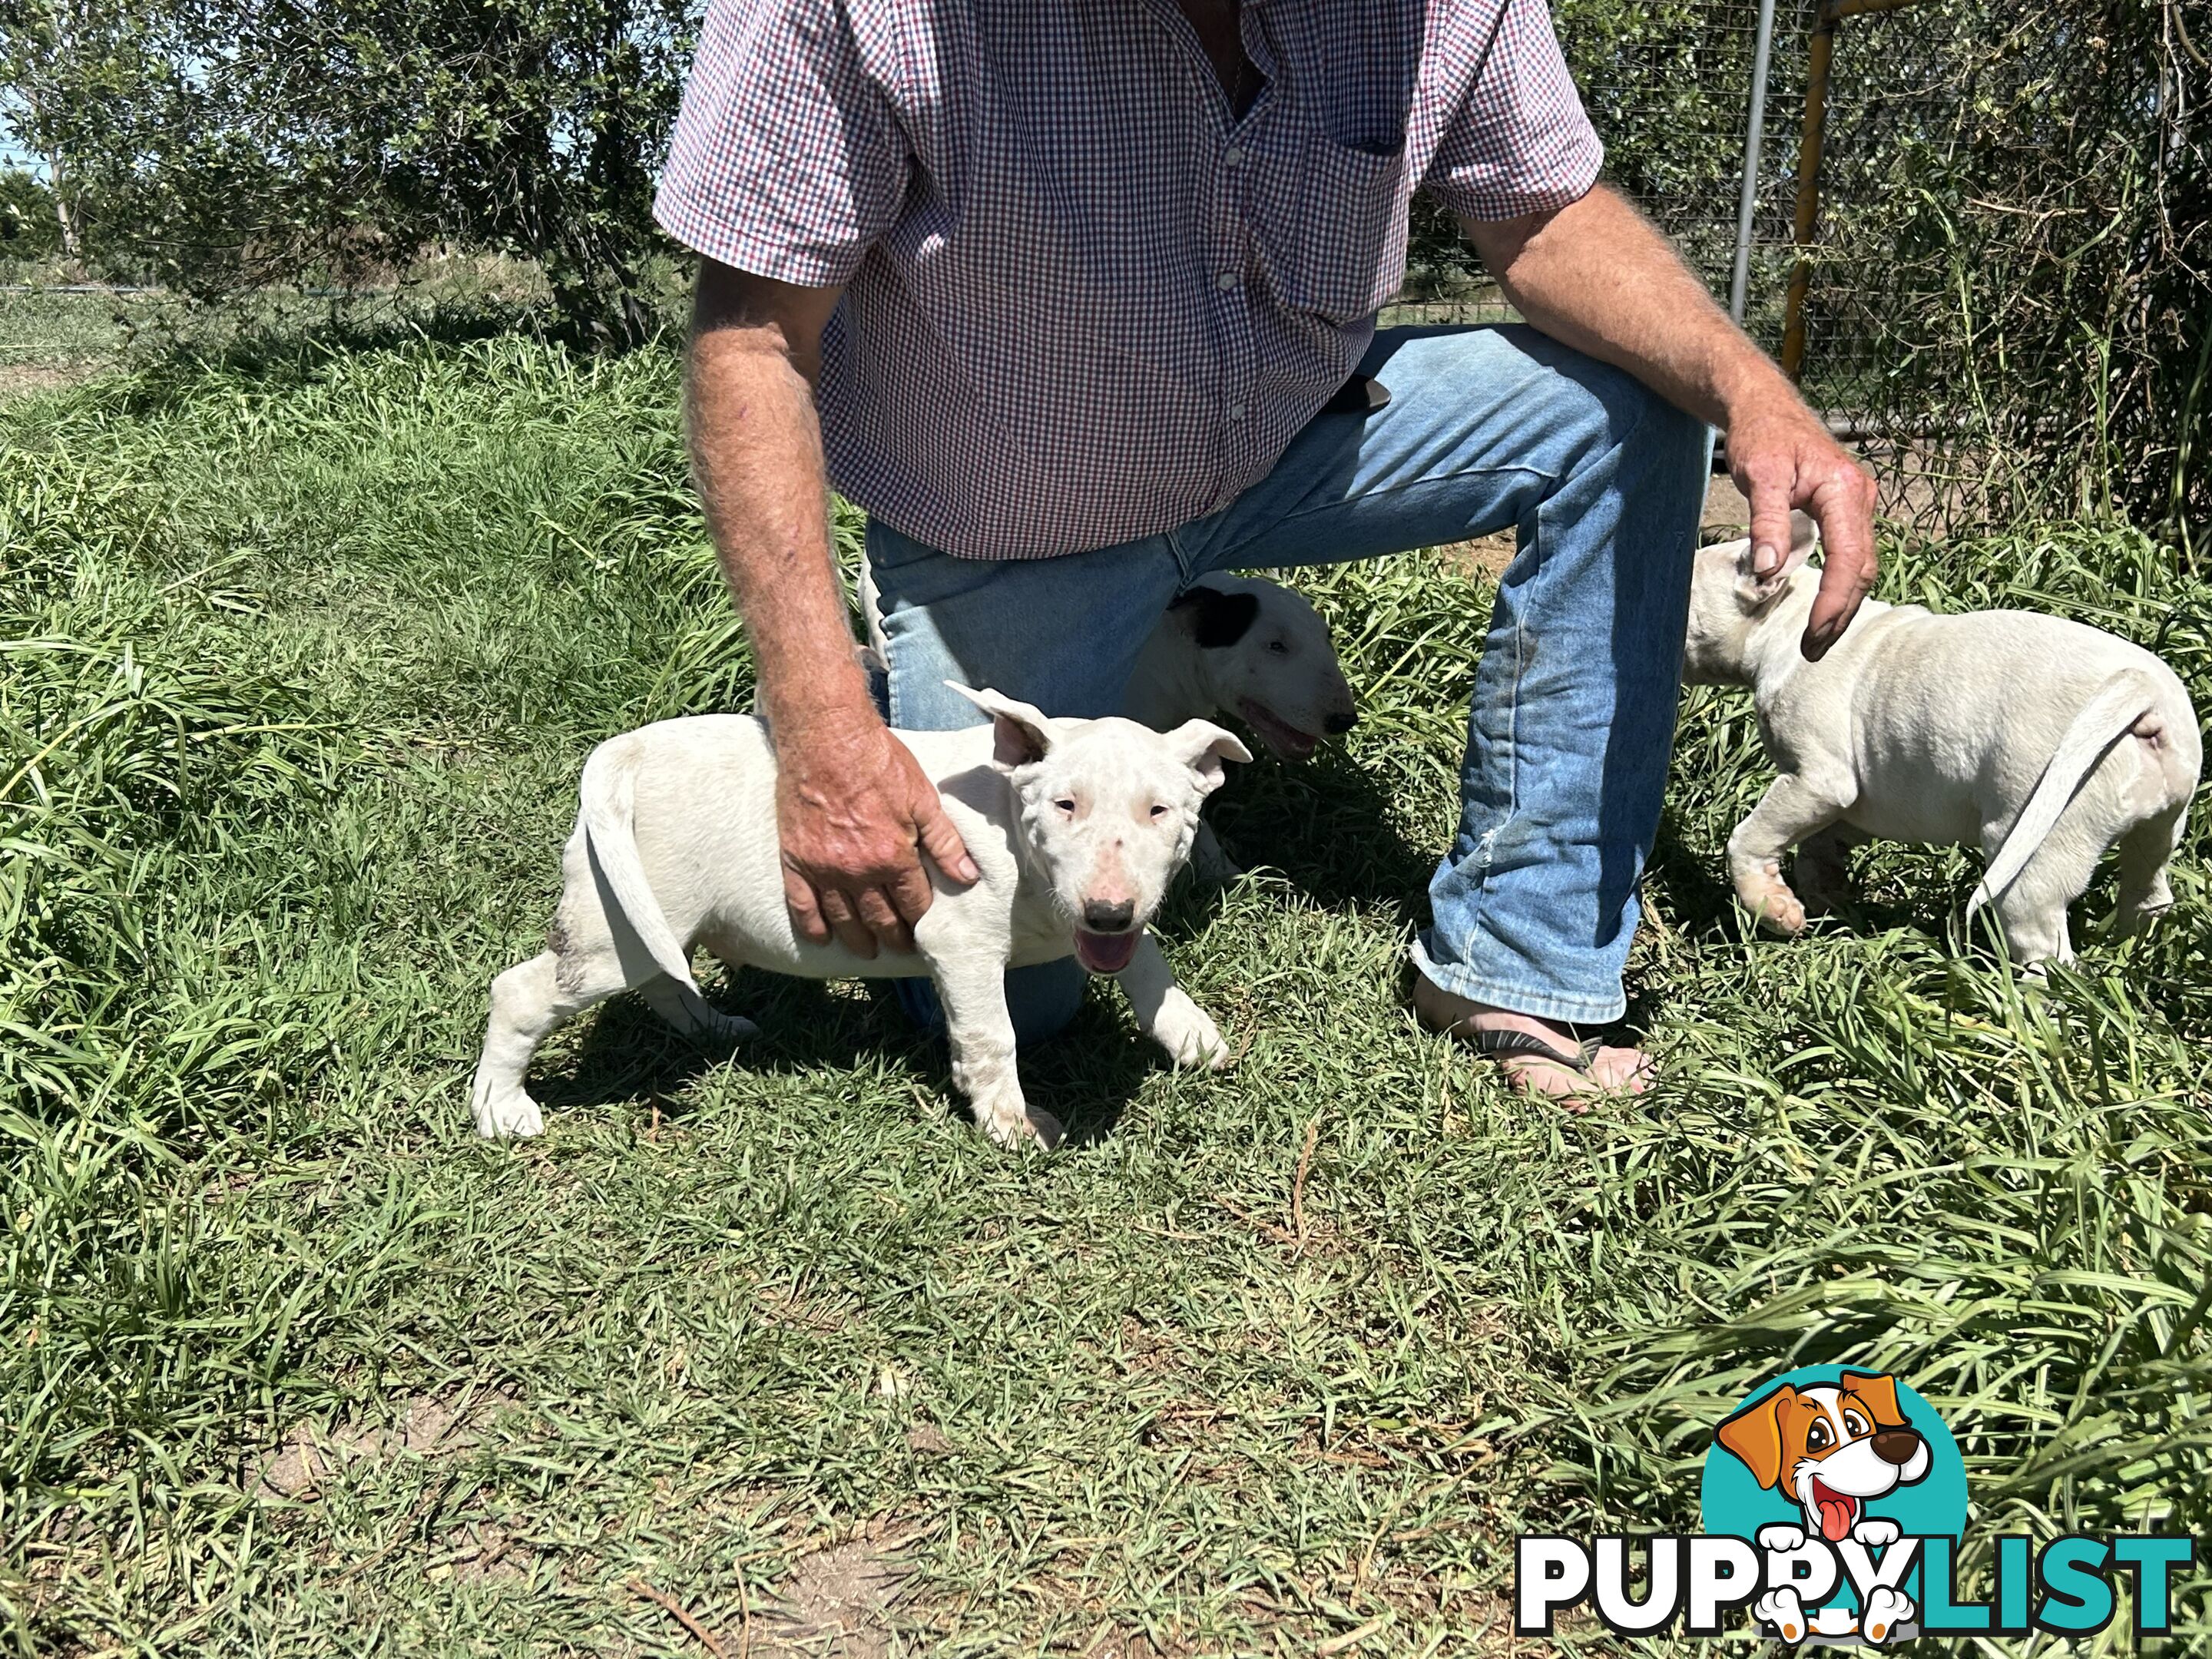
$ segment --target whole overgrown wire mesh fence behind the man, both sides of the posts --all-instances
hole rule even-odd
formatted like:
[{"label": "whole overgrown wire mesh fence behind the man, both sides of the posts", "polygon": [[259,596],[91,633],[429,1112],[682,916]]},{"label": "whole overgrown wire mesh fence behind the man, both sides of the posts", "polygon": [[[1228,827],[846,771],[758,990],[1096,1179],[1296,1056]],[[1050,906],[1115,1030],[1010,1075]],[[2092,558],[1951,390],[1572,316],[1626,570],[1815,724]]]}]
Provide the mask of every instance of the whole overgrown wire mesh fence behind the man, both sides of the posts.
[{"label": "whole overgrown wire mesh fence behind the man, both sides of the posts", "polygon": [[[1827,9],[1823,9],[1827,7]],[[1756,0],[1557,0],[1608,173],[1730,285]],[[1796,246],[1829,31],[1809,254]],[[2212,0],[1776,0],[1745,327],[1887,482],[1971,529],[2081,504],[2208,513]],[[1500,296],[1418,226],[1420,314]]]}]

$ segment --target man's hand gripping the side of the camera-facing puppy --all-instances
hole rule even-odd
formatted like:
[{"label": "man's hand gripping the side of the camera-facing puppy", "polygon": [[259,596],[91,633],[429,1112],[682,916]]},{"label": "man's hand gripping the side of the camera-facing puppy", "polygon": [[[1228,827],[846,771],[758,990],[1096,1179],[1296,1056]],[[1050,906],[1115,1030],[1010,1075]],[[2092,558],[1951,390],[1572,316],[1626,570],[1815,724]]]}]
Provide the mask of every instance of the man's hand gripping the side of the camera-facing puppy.
[{"label": "man's hand gripping the side of the camera-facing puppy", "polygon": [[922,852],[962,885],[980,874],[938,787],[874,714],[776,745],[776,836],[792,927],[863,958],[914,949],[931,898]]}]

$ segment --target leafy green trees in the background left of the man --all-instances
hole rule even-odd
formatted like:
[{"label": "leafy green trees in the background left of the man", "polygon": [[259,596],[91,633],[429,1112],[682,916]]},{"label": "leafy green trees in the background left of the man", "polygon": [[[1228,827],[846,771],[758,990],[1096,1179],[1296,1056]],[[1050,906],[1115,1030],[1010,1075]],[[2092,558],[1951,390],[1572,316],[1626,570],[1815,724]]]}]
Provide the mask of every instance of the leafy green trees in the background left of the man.
[{"label": "leafy green trees in the background left of the man", "polygon": [[20,137],[86,246],[197,296],[436,243],[635,341],[692,0],[0,0]]}]

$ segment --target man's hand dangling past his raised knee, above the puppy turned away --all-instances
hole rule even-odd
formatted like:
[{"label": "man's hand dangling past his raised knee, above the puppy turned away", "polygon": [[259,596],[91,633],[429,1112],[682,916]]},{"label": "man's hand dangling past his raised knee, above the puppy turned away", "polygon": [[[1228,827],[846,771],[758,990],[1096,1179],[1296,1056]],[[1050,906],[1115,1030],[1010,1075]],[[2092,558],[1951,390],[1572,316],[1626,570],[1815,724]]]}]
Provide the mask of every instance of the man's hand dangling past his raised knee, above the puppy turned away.
[{"label": "man's hand dangling past his raised knee, above the puppy turned away", "polygon": [[1807,661],[1820,661],[1874,588],[1874,473],[1787,385],[1761,387],[1741,405],[1728,411],[1728,471],[1752,504],[1752,568],[1767,575],[1781,566],[1792,507],[1820,524],[1820,597],[1798,646]]}]

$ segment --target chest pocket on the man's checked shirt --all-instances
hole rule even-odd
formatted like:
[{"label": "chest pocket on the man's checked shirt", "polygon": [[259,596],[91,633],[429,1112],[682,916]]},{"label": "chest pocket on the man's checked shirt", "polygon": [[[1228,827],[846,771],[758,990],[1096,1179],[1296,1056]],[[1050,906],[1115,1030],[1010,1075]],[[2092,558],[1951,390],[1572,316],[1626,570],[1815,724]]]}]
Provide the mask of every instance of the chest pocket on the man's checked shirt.
[{"label": "chest pocket on the man's checked shirt", "polygon": [[1279,239],[1283,303],[1347,325],[1383,310],[1405,283],[1409,195],[1402,144],[1363,150],[1316,133]]}]

